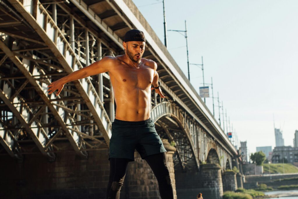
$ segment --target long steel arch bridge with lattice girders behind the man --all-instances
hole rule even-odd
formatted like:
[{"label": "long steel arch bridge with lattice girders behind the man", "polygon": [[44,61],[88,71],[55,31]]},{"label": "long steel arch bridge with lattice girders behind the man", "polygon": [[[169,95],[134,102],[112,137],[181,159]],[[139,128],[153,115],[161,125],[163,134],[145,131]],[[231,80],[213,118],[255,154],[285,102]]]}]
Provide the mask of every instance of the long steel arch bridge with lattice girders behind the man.
[{"label": "long steel arch bridge with lattice girders behind the man", "polygon": [[82,158],[108,147],[115,115],[108,73],[70,82],[60,96],[47,95],[47,86],[123,54],[132,28],[145,33],[143,57],[158,65],[167,97],[152,92],[151,118],[159,135],[175,143],[175,168],[204,162],[232,168],[236,149],[131,0],[0,0],[0,154],[21,161],[38,151],[54,161],[59,142]]}]

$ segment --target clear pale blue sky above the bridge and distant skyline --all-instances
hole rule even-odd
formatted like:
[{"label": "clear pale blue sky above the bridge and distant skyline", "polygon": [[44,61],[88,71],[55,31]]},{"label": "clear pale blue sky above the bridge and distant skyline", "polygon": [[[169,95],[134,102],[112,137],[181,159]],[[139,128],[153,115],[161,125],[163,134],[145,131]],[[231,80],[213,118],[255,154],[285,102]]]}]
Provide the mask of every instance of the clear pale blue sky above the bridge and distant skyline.
[{"label": "clear pale blue sky above the bridge and distant skyline", "polygon": [[[164,41],[160,0],[133,1]],[[187,21],[190,63],[201,64],[203,56],[205,83],[213,78],[214,95],[219,92],[231,126],[240,141],[247,141],[249,152],[257,146],[275,147],[273,114],[285,145],[293,146],[298,129],[298,1],[165,0],[165,11],[168,30],[184,30]],[[187,76],[185,38],[167,34],[168,50]],[[190,82],[199,93],[203,78],[195,65],[190,65]],[[206,104],[212,112],[212,98]]]}]

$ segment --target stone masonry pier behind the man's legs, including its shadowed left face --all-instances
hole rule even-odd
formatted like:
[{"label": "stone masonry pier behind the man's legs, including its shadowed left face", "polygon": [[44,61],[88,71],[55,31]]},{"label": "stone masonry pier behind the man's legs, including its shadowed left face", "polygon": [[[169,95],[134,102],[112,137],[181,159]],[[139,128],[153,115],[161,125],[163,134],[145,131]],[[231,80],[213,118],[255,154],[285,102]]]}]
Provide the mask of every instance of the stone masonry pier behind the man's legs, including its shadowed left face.
[{"label": "stone masonry pier behind the man's legs, including its shadowed left face", "polygon": [[[0,156],[0,198],[105,199],[110,172],[108,149],[89,151],[88,158],[82,159],[69,144],[65,147],[67,151],[57,152],[54,162],[39,152],[25,155],[21,163],[9,155]],[[136,161],[128,164],[120,198],[160,199],[151,168],[138,153],[135,156]],[[173,153],[167,152],[174,199],[177,199],[172,156]]]}]

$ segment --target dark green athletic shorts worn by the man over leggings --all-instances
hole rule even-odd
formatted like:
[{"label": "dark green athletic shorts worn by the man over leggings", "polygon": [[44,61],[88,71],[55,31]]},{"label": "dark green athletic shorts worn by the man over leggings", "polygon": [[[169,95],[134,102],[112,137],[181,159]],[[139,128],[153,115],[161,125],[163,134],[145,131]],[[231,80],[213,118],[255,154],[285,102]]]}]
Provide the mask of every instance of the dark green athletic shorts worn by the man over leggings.
[{"label": "dark green athletic shorts worn by the man over leggings", "polygon": [[112,122],[109,160],[128,158],[134,161],[135,149],[142,159],[147,155],[167,152],[151,118],[137,122],[115,119]]}]

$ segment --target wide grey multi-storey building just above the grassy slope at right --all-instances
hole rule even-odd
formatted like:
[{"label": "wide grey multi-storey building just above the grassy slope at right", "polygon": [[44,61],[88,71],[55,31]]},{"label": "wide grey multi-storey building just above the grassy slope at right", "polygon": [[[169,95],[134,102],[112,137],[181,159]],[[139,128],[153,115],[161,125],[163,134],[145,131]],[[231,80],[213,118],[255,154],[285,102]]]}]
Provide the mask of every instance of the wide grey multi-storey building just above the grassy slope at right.
[{"label": "wide grey multi-storey building just above the grassy slope at right", "polygon": [[272,163],[298,162],[298,147],[277,146],[272,152]]}]

